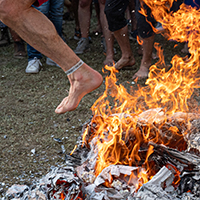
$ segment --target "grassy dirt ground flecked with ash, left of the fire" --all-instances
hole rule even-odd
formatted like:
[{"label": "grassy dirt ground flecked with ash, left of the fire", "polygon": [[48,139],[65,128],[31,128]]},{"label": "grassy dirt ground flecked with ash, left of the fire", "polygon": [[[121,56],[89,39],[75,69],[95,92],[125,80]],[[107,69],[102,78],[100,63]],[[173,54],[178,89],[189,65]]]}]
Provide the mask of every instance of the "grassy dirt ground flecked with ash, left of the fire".
[{"label": "grassy dirt ground flecked with ash, left of the fire", "polygon": [[[65,21],[63,24],[66,43],[72,49],[77,44],[73,39],[74,27],[74,21]],[[92,34],[95,27],[96,18],[93,14],[91,51],[80,55],[80,58],[105,78],[107,74],[102,72],[105,56],[101,35]],[[183,44],[169,42],[160,35],[156,35],[155,40],[163,46],[167,64],[170,64],[173,55],[181,54]],[[118,83],[127,88],[141,60],[137,53],[137,42],[130,42],[136,67],[133,70],[121,70],[117,74]],[[176,48],[175,44],[178,44]],[[116,42],[115,48],[117,61],[121,52]],[[30,184],[35,178],[45,175],[51,166],[61,165],[64,162],[61,146],[67,154],[72,151],[83,123],[92,115],[91,106],[104,91],[102,84],[86,95],[75,111],[55,114],[55,108],[69,89],[65,73],[58,67],[47,66],[44,57],[39,74],[25,74],[27,59],[14,59],[13,51],[13,44],[0,48],[0,195],[14,183]],[[141,85],[144,83],[139,82]]]}]

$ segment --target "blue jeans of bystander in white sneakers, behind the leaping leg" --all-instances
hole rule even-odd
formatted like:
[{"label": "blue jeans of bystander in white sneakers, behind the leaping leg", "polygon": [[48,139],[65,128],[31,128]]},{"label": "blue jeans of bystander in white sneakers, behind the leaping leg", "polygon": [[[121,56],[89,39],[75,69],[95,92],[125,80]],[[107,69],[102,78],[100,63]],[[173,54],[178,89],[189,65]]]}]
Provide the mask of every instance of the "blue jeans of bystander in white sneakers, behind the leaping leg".
[{"label": "blue jeans of bystander in white sneakers, behind the leaping leg", "polygon": [[[42,4],[40,7],[33,7],[42,12],[48,17],[49,20],[51,20],[58,34],[62,37],[64,0],[49,0]],[[42,54],[29,44],[27,44],[27,53],[28,61],[34,59],[35,57],[38,59],[42,58]]]}]

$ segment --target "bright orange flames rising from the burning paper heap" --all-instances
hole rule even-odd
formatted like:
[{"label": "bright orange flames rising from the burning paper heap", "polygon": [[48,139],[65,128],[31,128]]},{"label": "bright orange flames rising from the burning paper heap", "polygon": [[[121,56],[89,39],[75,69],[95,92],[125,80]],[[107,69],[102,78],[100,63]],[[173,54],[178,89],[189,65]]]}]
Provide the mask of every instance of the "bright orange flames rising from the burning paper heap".
[{"label": "bright orange flames rising from the burning paper heap", "polygon": [[[178,127],[165,127],[176,138],[171,141],[168,136],[161,136],[154,124],[162,128],[166,126],[169,116],[173,117],[179,112],[188,113],[188,99],[191,98],[194,89],[199,88],[200,80],[200,11],[182,4],[180,10],[172,13],[170,7],[173,0],[144,1],[152,9],[155,19],[167,30],[165,35],[167,34],[169,39],[188,42],[191,56],[188,58],[175,55],[171,61],[172,67],[167,71],[163,50],[155,44],[159,61],[150,67],[147,86],[138,86],[134,94],[128,93],[125,87],[116,84],[117,71],[114,67],[105,66],[110,75],[106,77],[103,95],[91,108],[94,125],[92,135],[86,137],[88,129],[83,135],[86,145],[96,138],[96,175],[111,164],[141,166],[144,171],[137,175],[137,187],[146,183],[155,174],[154,163],[148,162],[153,153],[153,147],[149,142],[179,150],[186,149]],[[145,15],[145,10],[142,9],[141,13]],[[195,109],[198,111],[198,108]],[[146,119],[145,125],[139,126],[143,115]],[[185,120],[188,120],[187,116]]]}]

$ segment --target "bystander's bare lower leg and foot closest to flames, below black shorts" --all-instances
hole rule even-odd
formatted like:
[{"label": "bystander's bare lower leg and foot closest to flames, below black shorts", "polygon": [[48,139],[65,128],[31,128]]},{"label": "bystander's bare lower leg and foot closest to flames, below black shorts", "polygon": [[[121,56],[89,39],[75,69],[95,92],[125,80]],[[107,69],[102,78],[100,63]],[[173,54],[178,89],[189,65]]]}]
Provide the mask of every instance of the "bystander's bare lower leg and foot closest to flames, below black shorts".
[{"label": "bystander's bare lower leg and foot closest to flames, below black shorts", "polygon": [[133,79],[143,79],[148,77],[149,67],[151,66],[152,51],[154,43],[154,35],[149,38],[141,38],[143,41],[143,56],[140,64],[140,68],[137,73],[134,74]]}]

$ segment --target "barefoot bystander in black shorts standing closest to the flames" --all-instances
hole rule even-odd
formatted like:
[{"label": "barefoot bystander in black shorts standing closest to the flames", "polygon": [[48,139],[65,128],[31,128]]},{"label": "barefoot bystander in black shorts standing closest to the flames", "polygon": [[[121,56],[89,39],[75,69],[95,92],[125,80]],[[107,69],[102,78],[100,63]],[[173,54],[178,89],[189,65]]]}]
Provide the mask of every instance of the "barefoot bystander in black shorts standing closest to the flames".
[{"label": "barefoot bystander in black shorts standing closest to the flames", "polygon": [[[148,77],[149,67],[151,66],[155,35],[151,25],[149,24],[149,22],[152,24],[156,23],[154,18],[151,16],[151,10],[145,4],[143,4],[143,7],[147,11],[146,19],[146,17],[139,12],[141,8],[141,2],[142,1],[140,0],[136,0],[135,16],[137,19],[138,35],[142,41],[143,56],[140,63],[140,68],[137,73],[134,74],[133,79]],[[115,64],[115,68],[117,70],[120,70],[125,66],[133,66],[135,64],[135,58],[130,47],[127,20],[125,18],[125,11],[128,4],[129,0],[106,0],[105,5],[105,14],[108,20],[109,29],[114,33],[114,36],[122,51],[121,59]]]}]

